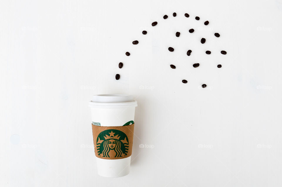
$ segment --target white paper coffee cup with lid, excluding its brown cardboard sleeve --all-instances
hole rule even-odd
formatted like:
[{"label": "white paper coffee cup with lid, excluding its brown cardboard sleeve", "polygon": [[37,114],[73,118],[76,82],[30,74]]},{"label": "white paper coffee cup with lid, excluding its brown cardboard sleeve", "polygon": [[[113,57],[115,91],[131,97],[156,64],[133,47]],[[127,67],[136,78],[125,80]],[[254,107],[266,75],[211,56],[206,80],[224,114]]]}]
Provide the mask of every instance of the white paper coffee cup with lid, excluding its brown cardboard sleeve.
[{"label": "white paper coffee cup with lid, excluding its brown cardboard sleeve", "polygon": [[[89,106],[92,125],[116,127],[134,121],[137,101],[134,101],[131,95],[94,95],[92,101],[89,101]],[[96,157],[98,174],[104,177],[125,176],[130,171],[130,158],[131,156],[111,160]]]}]

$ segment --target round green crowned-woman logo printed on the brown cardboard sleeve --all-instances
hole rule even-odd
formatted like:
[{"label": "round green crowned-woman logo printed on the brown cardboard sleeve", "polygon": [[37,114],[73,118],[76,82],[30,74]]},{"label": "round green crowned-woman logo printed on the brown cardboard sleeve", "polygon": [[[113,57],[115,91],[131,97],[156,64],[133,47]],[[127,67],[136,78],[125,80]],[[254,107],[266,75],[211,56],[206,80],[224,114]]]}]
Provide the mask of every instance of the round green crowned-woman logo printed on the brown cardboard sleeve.
[{"label": "round green crowned-woman logo printed on the brown cardboard sleeve", "polygon": [[128,152],[128,138],[120,130],[104,130],[97,137],[97,151],[100,157],[125,157]]}]

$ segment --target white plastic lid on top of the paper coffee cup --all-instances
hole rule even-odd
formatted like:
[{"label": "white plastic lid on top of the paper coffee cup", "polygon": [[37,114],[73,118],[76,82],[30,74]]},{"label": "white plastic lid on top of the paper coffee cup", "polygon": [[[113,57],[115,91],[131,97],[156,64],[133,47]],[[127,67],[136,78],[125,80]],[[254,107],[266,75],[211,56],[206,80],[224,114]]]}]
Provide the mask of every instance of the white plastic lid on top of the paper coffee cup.
[{"label": "white plastic lid on top of the paper coffee cup", "polygon": [[92,101],[89,101],[89,106],[98,108],[135,107],[137,101],[134,101],[132,95],[100,94],[93,95]]}]

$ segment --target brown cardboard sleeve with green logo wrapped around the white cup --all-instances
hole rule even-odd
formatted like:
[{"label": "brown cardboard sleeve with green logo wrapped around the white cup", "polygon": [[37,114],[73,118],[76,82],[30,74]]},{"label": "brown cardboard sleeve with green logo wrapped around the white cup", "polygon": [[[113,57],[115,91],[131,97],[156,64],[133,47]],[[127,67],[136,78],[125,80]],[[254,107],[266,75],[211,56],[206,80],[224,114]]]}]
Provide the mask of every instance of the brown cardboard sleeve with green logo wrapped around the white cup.
[{"label": "brown cardboard sleeve with green logo wrapped around the white cup", "polygon": [[95,156],[101,159],[123,159],[131,156],[134,123],[105,127],[92,124]]}]

